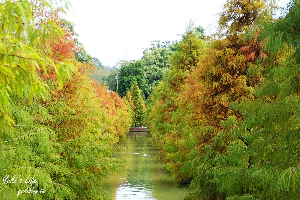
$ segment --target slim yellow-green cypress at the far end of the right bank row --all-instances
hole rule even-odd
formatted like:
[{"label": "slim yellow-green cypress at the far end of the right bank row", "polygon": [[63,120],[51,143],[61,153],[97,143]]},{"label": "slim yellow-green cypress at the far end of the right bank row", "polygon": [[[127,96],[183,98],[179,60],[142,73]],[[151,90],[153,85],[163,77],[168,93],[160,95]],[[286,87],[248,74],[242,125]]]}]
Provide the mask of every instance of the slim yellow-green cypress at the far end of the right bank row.
[{"label": "slim yellow-green cypress at the far end of the right bank row", "polygon": [[182,41],[177,45],[176,52],[171,56],[171,70],[164,76],[147,105],[147,127],[152,143],[160,148],[159,156],[166,163],[166,169],[177,182],[189,182],[190,173],[181,173],[186,157],[186,146],[182,141],[182,124],[178,108],[178,100],[184,81],[196,68],[205,47],[199,39],[196,30],[188,27],[182,35]]}]

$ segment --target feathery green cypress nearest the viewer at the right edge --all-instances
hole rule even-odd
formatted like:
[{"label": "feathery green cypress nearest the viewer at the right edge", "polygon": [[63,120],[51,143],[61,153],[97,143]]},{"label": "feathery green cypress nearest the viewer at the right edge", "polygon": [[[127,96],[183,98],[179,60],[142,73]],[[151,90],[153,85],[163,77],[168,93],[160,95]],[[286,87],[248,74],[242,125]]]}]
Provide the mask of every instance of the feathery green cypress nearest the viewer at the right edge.
[{"label": "feathery green cypress nearest the viewer at the right edge", "polygon": [[244,120],[233,124],[234,140],[209,170],[228,199],[300,198],[299,8],[300,1],[289,1],[285,16],[262,21],[265,81],[255,100],[232,105]]}]

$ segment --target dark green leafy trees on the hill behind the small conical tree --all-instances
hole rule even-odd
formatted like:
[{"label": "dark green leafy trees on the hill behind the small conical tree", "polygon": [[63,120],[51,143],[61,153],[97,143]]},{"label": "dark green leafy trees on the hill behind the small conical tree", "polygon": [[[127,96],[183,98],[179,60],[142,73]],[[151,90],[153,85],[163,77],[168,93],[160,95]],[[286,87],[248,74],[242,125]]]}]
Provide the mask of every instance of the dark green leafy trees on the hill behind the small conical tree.
[{"label": "dark green leafy trees on the hill behind the small conical tree", "polygon": [[[152,88],[158,85],[165,73],[170,69],[170,56],[176,50],[177,41],[162,42],[154,40],[150,47],[143,52],[143,57],[138,61],[119,61],[115,70],[111,74],[104,76],[103,80],[110,88],[116,91],[116,70],[119,68],[119,88],[118,93],[124,96],[134,81],[137,81],[142,91],[144,101],[148,98]],[[123,75],[122,75],[123,73]],[[126,77],[124,77],[126,76]],[[120,90],[120,91],[119,91]]]}]

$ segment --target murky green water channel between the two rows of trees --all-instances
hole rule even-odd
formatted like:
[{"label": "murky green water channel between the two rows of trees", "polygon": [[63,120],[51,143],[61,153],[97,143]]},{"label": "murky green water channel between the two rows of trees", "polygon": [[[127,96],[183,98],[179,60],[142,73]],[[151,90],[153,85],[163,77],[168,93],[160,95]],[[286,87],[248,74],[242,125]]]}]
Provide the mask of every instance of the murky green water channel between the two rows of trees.
[{"label": "murky green water channel between the two rows of trees", "polygon": [[118,151],[118,158],[127,161],[124,174],[110,176],[106,189],[116,200],[182,200],[187,188],[179,189],[172,178],[162,172],[157,159],[158,149],[151,146],[146,132],[130,132],[120,146],[129,147],[128,152]]}]

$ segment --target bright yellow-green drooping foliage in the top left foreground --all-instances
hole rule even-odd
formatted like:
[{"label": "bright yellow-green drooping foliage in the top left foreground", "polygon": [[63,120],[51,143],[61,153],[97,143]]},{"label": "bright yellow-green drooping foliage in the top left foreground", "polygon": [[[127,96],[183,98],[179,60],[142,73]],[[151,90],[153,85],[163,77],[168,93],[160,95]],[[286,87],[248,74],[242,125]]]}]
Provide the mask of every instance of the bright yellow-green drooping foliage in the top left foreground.
[{"label": "bright yellow-green drooping foliage in the top left foreground", "polygon": [[3,108],[12,92],[22,98],[23,87],[28,87],[30,103],[34,94],[44,97],[45,84],[38,78],[37,72],[47,74],[54,69],[61,87],[65,79],[71,77],[72,70],[76,70],[68,59],[56,62],[38,53],[36,47],[40,48],[44,42],[45,51],[49,53],[48,40],[55,35],[63,35],[53,20],[35,21],[34,14],[43,9],[54,13],[54,8],[45,0],[36,4],[26,0],[9,0],[0,4],[0,128],[3,128],[4,121],[13,123]]}]

